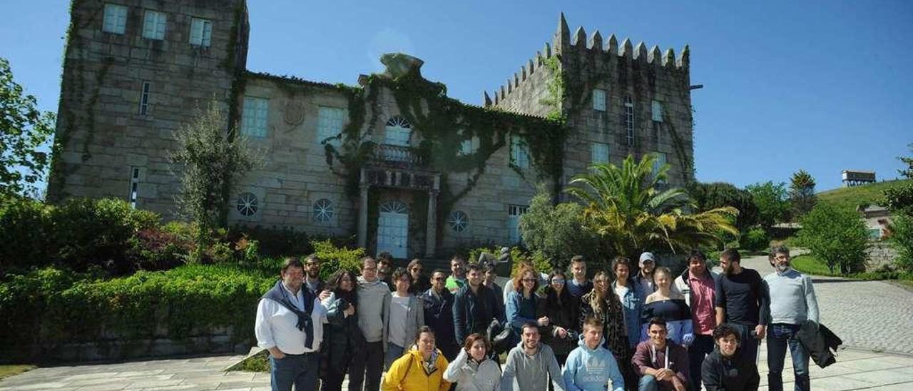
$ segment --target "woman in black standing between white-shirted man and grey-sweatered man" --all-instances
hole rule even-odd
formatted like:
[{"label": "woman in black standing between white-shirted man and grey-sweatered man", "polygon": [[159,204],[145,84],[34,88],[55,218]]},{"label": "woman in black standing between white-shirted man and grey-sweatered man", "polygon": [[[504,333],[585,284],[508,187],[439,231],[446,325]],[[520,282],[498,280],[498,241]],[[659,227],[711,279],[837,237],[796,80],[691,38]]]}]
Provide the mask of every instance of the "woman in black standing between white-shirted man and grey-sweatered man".
[{"label": "woman in black standing between white-shirted man and grey-sweatered man", "polygon": [[342,380],[352,371],[353,357],[364,352],[364,335],[358,327],[357,278],[352,271],[341,269],[330,278],[330,296],[324,299],[327,325],[323,343],[327,360],[326,374],[320,389],[341,391]]}]

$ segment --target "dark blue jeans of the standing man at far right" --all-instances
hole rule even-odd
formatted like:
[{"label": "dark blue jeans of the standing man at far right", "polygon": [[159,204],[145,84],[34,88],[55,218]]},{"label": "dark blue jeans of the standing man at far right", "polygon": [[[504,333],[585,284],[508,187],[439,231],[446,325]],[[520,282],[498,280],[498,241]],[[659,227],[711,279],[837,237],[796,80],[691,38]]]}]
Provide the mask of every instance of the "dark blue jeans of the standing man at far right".
[{"label": "dark blue jeans of the standing man at far right", "polygon": [[808,378],[808,352],[802,343],[795,339],[799,333],[799,324],[773,323],[767,332],[767,373],[768,389],[782,391],[783,389],[783,361],[786,358],[786,347],[789,346],[792,355],[792,373],[795,375],[795,390],[808,391],[811,389]]}]

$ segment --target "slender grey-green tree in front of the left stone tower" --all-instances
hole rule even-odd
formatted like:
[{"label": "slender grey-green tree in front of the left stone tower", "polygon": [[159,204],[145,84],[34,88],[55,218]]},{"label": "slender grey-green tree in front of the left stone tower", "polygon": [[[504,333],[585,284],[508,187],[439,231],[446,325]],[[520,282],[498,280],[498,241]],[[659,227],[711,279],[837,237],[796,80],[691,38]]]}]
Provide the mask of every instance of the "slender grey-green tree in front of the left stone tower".
[{"label": "slender grey-green tree in front of the left stone tower", "polygon": [[236,136],[236,127],[228,128],[226,123],[214,100],[193,122],[174,132],[178,148],[172,161],[181,164],[178,206],[199,227],[191,255],[194,261],[202,259],[215,228],[225,226],[232,184],[258,164],[247,140]]}]

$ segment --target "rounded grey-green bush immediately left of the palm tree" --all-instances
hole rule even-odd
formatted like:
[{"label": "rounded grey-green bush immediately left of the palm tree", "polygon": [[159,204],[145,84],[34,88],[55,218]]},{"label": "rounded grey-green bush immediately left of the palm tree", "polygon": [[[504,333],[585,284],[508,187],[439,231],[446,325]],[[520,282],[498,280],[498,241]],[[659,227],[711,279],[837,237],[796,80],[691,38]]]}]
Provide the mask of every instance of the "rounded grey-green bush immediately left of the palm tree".
[{"label": "rounded grey-green bush immediately left of the palm tree", "polygon": [[556,266],[566,266],[578,254],[585,259],[606,258],[601,254],[599,238],[583,227],[583,206],[555,206],[551,198],[544,186],[532,197],[529,210],[519,218],[523,243]]}]

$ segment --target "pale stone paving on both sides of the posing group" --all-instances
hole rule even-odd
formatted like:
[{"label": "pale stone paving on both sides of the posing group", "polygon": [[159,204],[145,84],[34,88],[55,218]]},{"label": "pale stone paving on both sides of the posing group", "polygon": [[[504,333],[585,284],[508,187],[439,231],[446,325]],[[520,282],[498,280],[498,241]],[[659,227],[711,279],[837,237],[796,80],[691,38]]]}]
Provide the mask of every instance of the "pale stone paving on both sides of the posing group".
[{"label": "pale stone paving on both sides of the posing group", "polygon": [[[761,275],[771,272],[767,259],[744,259]],[[913,292],[878,281],[815,278],[822,322],[849,349],[837,364],[811,368],[815,390],[913,390]],[[886,352],[897,352],[892,354]],[[121,364],[37,368],[0,381],[0,391],[157,391],[269,389],[268,374],[224,373],[238,356],[137,361]],[[787,356],[786,368],[791,368]],[[761,344],[761,390],[767,389],[766,349]],[[792,389],[792,371],[783,375]]]}]

